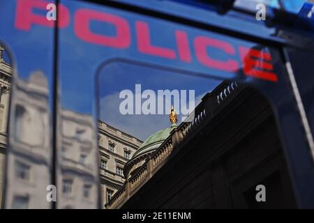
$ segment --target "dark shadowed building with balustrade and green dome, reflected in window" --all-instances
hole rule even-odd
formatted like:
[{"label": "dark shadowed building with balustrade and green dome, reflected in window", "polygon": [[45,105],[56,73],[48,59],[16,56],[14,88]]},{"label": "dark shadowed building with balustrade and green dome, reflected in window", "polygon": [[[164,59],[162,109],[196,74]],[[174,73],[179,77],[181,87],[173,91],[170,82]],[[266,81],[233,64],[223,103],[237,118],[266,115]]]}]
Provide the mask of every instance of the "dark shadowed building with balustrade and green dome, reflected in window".
[{"label": "dark shadowed building with balustrade and green dome, reflected in window", "polygon": [[[144,141],[106,208],[296,207],[274,112],[262,93],[222,82],[194,114]],[[257,185],[266,187],[267,202],[257,202]]]}]

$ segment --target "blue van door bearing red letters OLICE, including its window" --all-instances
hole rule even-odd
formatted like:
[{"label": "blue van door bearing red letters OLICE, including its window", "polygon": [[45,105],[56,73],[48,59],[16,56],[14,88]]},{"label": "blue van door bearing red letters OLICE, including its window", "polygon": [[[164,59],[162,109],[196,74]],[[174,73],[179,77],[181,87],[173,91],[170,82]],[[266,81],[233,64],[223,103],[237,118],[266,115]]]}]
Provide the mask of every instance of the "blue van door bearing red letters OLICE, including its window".
[{"label": "blue van door bearing red letters OLICE, including its window", "polygon": [[[73,187],[57,208],[96,207],[99,185],[102,208],[294,207],[301,194],[311,203],[313,160],[281,43],[249,36],[248,23],[240,35],[184,15],[61,3],[74,20],[59,31],[56,174],[57,187]],[[255,206],[261,185],[277,197]]]}]

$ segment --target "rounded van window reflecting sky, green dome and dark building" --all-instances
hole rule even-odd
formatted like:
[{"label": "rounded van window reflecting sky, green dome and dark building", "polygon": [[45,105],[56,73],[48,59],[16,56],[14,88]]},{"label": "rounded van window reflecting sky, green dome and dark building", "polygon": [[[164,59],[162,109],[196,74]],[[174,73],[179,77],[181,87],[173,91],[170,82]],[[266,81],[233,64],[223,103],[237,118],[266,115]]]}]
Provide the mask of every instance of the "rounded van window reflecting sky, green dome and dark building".
[{"label": "rounded van window reflecting sky, green dome and dark building", "polygon": [[[133,190],[149,197],[146,178],[157,175],[159,165],[167,169],[171,162],[176,166],[159,175],[159,186],[153,186],[154,197],[150,196],[151,201],[143,199],[145,205],[162,199],[165,191],[176,185],[176,198],[163,201],[163,206],[149,207],[209,208],[230,203],[237,208],[296,206],[274,108],[253,87],[119,61],[103,66],[96,83],[98,134],[103,139],[100,156],[109,157],[107,168],[100,170],[101,187],[103,192],[113,192],[107,208],[144,208],[144,204],[132,203],[132,195],[140,196]],[[176,149],[186,151],[179,161],[172,156],[179,155]],[[124,157],[126,150],[130,160]],[[197,184],[202,174],[192,174],[200,165],[208,166],[207,189]],[[188,187],[186,178],[191,180]],[[112,187],[105,183],[110,180],[119,183]],[[258,185],[271,193],[267,203],[255,199]],[[128,192],[126,187],[130,188]],[[220,193],[232,196],[225,200],[215,194],[207,197],[205,204],[203,199],[197,200],[198,194],[210,196],[216,187],[224,187]],[[195,197],[187,196],[191,193]],[[105,203],[106,194],[102,196]],[[124,196],[130,196],[127,204]],[[178,197],[179,201],[172,203]]]}]

